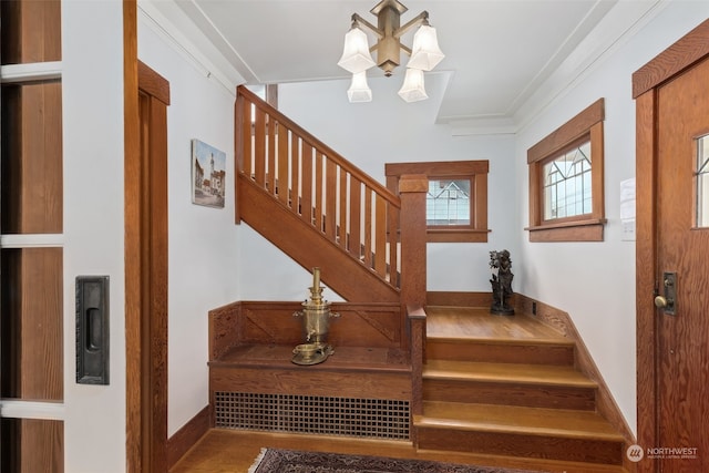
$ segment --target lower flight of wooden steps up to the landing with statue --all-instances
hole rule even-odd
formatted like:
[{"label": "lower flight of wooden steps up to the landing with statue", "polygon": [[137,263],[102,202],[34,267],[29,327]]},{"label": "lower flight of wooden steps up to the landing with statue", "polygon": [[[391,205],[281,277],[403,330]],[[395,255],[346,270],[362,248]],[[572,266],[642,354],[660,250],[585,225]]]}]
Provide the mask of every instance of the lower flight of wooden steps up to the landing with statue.
[{"label": "lower flight of wooden steps up to the landing with statue", "polygon": [[[420,450],[559,460],[624,471],[624,438],[596,413],[574,343],[525,315],[428,307]],[[617,470],[602,470],[617,465]]]}]

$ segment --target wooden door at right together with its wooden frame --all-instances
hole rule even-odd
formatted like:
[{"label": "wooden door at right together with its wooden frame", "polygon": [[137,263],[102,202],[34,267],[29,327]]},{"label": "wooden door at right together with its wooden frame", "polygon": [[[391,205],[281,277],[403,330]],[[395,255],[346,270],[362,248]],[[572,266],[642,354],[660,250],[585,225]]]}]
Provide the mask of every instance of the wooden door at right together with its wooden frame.
[{"label": "wooden door at right together with its wooden frame", "polygon": [[636,95],[638,470],[647,472],[709,471],[708,38],[705,22],[634,76],[639,88],[654,75]]}]

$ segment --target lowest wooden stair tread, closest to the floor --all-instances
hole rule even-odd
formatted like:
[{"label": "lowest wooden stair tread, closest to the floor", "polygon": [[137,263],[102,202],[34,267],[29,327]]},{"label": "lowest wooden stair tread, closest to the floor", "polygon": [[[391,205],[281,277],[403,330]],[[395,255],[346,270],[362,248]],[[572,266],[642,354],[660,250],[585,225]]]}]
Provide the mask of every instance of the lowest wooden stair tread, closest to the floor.
[{"label": "lowest wooden stair tread, closest to the floor", "polygon": [[418,428],[458,429],[525,435],[554,435],[623,442],[623,435],[595,412],[424,401]]}]

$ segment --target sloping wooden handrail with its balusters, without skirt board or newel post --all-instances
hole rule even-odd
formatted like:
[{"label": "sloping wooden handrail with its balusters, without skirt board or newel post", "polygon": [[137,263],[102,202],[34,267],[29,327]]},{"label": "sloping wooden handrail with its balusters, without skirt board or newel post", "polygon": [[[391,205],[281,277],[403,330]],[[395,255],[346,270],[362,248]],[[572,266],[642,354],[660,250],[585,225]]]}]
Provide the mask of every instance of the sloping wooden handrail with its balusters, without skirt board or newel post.
[{"label": "sloping wooden handrail with its balusters, without skirt board or newel post", "polygon": [[243,85],[235,117],[237,174],[399,289],[400,197]]}]

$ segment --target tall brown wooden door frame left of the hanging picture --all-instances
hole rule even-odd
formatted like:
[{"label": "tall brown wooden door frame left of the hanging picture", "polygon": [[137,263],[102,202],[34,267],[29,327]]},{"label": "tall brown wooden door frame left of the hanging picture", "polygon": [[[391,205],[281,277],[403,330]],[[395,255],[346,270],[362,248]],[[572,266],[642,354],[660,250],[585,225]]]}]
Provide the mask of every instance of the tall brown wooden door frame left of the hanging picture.
[{"label": "tall brown wooden door frame left of the hanging picture", "polygon": [[137,59],[136,0],[123,44],[126,471],[167,472],[169,83]]}]

